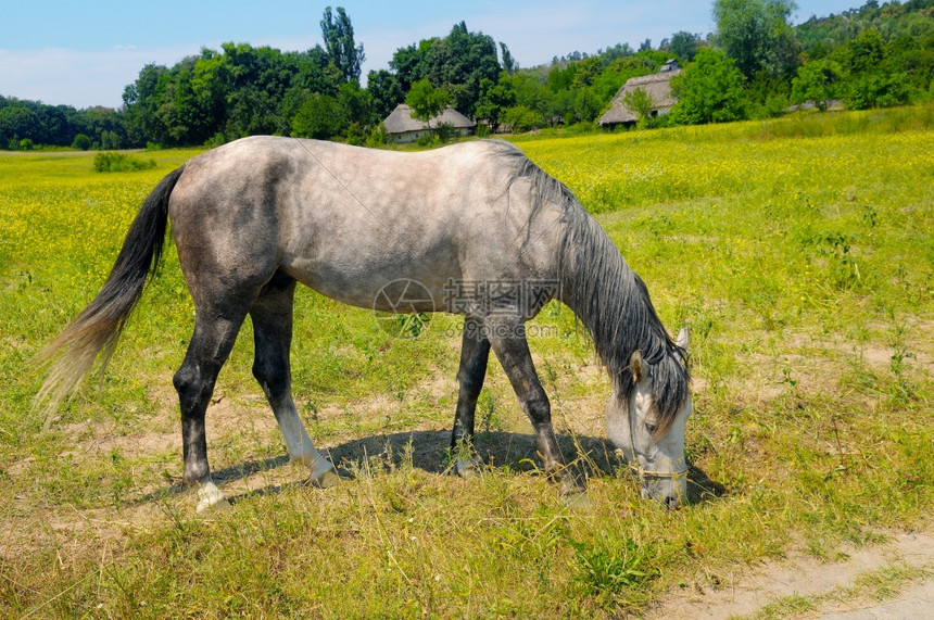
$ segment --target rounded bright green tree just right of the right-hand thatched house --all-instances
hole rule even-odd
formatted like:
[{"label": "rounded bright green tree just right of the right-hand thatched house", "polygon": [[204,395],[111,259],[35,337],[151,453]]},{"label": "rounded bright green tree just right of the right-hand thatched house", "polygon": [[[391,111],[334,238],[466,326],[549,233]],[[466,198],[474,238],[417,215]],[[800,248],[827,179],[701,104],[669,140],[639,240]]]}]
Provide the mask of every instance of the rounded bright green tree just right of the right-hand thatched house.
[{"label": "rounded bright green tree just right of the right-hand thatched house", "polygon": [[745,117],[743,74],[721,50],[703,49],[694,63],[671,79],[678,103],[672,119],[683,125],[728,123]]}]

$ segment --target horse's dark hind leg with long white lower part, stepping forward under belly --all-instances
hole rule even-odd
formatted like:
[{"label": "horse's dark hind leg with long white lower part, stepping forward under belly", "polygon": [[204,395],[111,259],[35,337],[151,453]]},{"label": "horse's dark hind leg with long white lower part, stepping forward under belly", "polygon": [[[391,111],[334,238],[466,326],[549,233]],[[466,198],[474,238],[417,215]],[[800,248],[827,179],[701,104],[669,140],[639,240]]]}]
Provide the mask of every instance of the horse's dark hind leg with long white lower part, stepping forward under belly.
[{"label": "horse's dark hind leg with long white lower part, stepping forward under belly", "polygon": [[294,293],[295,280],[278,271],[250,307],[256,350],[253,376],[273,407],[289,456],[311,468],[313,483],[329,486],[338,481],[335,466],[315,450],[292,401],[289,346]]}]

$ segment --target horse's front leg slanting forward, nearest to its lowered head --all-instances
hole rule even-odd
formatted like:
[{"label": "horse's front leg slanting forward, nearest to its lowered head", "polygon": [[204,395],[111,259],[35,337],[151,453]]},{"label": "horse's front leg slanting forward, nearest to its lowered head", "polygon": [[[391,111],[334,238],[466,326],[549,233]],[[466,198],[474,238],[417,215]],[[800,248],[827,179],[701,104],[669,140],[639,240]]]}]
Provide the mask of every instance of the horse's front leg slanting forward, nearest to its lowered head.
[{"label": "horse's front leg slanting forward, nearest to its lowered head", "polygon": [[552,427],[552,408],[548,396],[535,372],[523,322],[491,326],[490,344],[503,365],[513,390],[526,415],[532,422],[539,453],[544,460],[545,472],[561,483],[561,494],[581,493],[584,485],[565,465]]}]

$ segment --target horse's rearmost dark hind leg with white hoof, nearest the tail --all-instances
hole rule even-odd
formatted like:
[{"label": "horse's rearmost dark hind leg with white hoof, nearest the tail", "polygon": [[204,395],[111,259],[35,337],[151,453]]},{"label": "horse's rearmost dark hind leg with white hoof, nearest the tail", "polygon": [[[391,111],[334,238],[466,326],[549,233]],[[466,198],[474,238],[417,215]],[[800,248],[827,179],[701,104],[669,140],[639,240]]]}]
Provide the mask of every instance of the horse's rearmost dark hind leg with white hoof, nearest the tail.
[{"label": "horse's rearmost dark hind leg with white hoof, nearest the tail", "polygon": [[199,513],[224,501],[224,494],[211,480],[204,415],[217,374],[234,347],[245,316],[247,308],[239,308],[237,304],[224,308],[199,308],[194,336],[191,337],[185,362],[173,378],[181,406],[182,482],[198,488]]}]

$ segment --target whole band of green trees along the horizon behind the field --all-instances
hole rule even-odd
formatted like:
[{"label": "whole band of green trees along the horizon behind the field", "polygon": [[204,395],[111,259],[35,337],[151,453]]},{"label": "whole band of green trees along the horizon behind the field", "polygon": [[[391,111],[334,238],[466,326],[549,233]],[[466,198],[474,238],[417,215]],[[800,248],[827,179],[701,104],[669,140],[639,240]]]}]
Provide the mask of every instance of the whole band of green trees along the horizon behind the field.
[{"label": "whole band of green trees along the horizon behind the field", "polygon": [[[364,46],[344,9],[327,8],[323,45],[288,52],[231,42],[172,67],[146,65],[119,110],[0,97],[0,148],[214,145],[255,134],[373,144],[386,140],[381,121],[404,101],[422,115],[450,104],[481,131],[592,127],[627,79],[670,59],[684,67],[672,81],[678,103],[655,125],[759,118],[810,101],[864,109],[934,99],[934,0],[870,0],[793,27],[796,9],[792,0],[714,0],[712,34],[575,51],[531,68],[460,22],[399,48],[362,87]],[[651,103],[633,101],[643,124]]]}]

